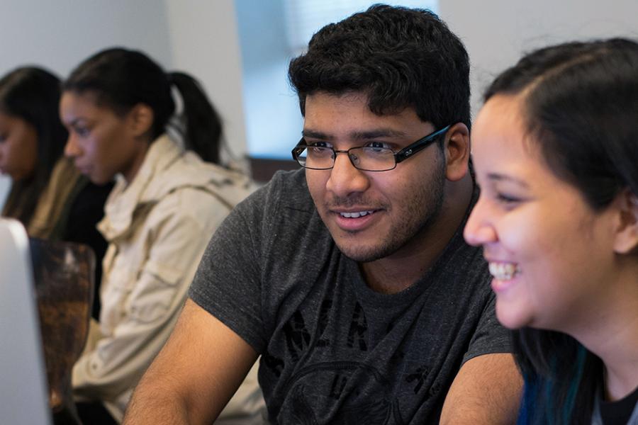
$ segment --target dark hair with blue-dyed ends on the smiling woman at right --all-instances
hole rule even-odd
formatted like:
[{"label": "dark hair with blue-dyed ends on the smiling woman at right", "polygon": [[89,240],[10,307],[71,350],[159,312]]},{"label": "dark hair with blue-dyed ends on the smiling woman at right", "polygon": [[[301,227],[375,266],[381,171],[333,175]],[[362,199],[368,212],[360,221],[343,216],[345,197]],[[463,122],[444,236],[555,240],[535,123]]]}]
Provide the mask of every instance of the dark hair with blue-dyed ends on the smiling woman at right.
[{"label": "dark hair with blue-dyed ends on the smiling woman at right", "polygon": [[[523,94],[530,140],[593,210],[629,189],[638,196],[638,44],[569,42],[523,57],[488,87]],[[601,284],[604,284],[601,282]],[[520,424],[589,424],[603,363],[576,339],[542,329],[513,334],[525,378]]]}]

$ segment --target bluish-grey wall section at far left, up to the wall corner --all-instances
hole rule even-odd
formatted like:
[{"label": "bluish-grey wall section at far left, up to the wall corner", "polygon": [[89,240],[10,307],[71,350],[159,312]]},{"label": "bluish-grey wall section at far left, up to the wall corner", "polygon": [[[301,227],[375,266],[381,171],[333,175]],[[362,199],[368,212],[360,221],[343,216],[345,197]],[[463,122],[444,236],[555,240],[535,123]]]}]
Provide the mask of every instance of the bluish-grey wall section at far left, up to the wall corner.
[{"label": "bluish-grey wall section at far left, up to the wall corner", "polygon": [[166,11],[142,0],[2,0],[0,74],[40,64],[65,77],[81,60],[111,45],[170,59]]}]

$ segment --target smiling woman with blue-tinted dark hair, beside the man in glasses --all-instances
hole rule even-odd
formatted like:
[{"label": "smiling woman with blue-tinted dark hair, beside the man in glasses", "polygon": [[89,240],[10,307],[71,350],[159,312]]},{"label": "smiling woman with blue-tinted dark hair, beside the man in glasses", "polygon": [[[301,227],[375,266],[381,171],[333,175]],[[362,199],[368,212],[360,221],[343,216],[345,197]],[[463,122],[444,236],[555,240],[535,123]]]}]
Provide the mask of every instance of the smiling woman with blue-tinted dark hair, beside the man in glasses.
[{"label": "smiling woman with blue-tinted dark hair, beside the man in glasses", "polygon": [[519,424],[638,424],[638,43],[568,42],[489,86],[472,137]]}]

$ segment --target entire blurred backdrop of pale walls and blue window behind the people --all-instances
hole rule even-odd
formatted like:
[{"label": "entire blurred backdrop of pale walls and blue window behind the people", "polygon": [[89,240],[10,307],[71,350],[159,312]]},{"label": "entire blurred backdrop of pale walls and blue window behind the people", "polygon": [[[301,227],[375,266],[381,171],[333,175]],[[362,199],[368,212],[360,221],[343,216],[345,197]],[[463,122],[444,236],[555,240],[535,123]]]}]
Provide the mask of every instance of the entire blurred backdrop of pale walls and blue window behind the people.
[{"label": "entire blurred backdrop of pale walls and blue window behind the people", "polygon": [[[26,64],[62,79],[105,47],[144,50],[194,75],[222,115],[228,159],[267,181],[293,166],[301,114],[286,72],[310,36],[377,1],[2,0],[0,74]],[[636,0],[405,0],[430,8],[464,41],[472,108],[494,74],[523,52],[564,40],[638,38]],[[0,176],[0,205],[9,181]]]}]

